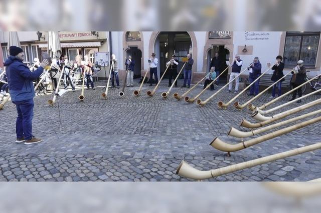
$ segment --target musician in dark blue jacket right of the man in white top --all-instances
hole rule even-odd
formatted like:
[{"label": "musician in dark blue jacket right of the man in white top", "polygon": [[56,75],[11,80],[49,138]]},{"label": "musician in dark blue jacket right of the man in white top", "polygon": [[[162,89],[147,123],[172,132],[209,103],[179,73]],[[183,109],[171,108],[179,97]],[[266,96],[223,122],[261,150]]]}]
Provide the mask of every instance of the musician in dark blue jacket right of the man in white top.
[{"label": "musician in dark blue jacket right of the man in white top", "polygon": [[[262,65],[259,61],[259,57],[254,57],[252,65],[247,67],[247,69],[250,71],[249,72],[250,83],[252,83],[254,80],[256,80],[256,78],[258,78],[261,75],[261,68],[262,68]],[[259,93],[259,82],[260,82],[260,79],[258,79],[257,81],[255,81],[254,84],[251,85],[249,95],[257,95]]]}]

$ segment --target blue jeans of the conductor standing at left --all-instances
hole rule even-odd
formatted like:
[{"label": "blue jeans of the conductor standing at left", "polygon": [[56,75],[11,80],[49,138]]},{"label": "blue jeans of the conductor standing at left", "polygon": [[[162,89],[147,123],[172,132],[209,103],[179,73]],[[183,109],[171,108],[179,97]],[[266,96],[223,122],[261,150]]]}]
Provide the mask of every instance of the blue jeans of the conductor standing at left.
[{"label": "blue jeans of the conductor standing at left", "polygon": [[17,108],[16,134],[18,138],[32,138],[32,118],[34,117],[34,98],[22,101],[12,101]]}]

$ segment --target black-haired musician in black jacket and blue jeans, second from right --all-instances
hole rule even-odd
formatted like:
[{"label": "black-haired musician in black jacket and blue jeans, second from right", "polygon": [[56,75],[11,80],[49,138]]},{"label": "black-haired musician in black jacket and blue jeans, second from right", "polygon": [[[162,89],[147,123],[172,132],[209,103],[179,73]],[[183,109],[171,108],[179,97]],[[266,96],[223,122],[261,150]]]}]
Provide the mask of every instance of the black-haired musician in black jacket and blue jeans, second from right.
[{"label": "black-haired musician in black jacket and blue jeans, second from right", "polygon": [[[272,77],[271,77],[271,80],[273,82],[278,81],[280,78],[282,78],[284,76],[284,74],[283,74],[284,63],[282,63],[282,59],[283,59],[283,57],[281,55],[277,55],[276,56],[276,62],[271,68],[272,70],[274,70],[273,74],[272,74]],[[281,96],[281,94],[282,94],[282,90],[281,90],[282,81],[284,81],[284,78],[282,80],[280,80],[279,82],[277,82],[277,84],[273,85],[272,96],[270,98],[274,98],[275,97],[276,86],[278,87],[278,96]]]}]

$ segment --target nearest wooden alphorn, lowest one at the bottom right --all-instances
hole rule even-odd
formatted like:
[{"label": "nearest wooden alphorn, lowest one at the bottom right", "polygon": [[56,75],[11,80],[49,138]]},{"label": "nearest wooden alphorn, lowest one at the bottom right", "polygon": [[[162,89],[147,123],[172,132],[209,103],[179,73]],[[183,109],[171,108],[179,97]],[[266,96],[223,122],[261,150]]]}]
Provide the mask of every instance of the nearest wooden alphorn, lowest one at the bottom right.
[{"label": "nearest wooden alphorn, lowest one at the bottom right", "polygon": [[263,163],[268,163],[278,159],[283,159],[297,154],[302,154],[304,152],[313,151],[319,148],[321,148],[321,142],[207,171],[196,169],[193,166],[189,165],[187,162],[185,162],[185,160],[182,160],[182,162],[177,168],[176,174],[196,180],[208,179],[227,173],[232,173],[245,168],[250,168],[252,166],[261,165]]}]

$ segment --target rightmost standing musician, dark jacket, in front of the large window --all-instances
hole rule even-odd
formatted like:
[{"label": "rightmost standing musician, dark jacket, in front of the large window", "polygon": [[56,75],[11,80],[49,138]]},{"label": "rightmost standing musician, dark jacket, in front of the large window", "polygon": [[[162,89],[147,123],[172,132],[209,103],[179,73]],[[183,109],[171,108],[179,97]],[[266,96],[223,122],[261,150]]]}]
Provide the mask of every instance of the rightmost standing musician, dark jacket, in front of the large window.
[{"label": "rightmost standing musician, dark jacket, in front of the large window", "polygon": [[[306,69],[303,66],[303,60],[298,60],[297,65],[293,69],[294,69],[294,71],[291,72],[292,73],[291,85],[292,85],[292,88],[295,88],[295,87],[299,86],[300,84],[304,83]],[[292,92],[292,99],[290,99],[290,101],[295,99],[296,92],[298,93],[299,97],[301,97],[302,96],[302,87],[297,88]],[[296,102],[300,103],[302,101],[298,100]]]}]

